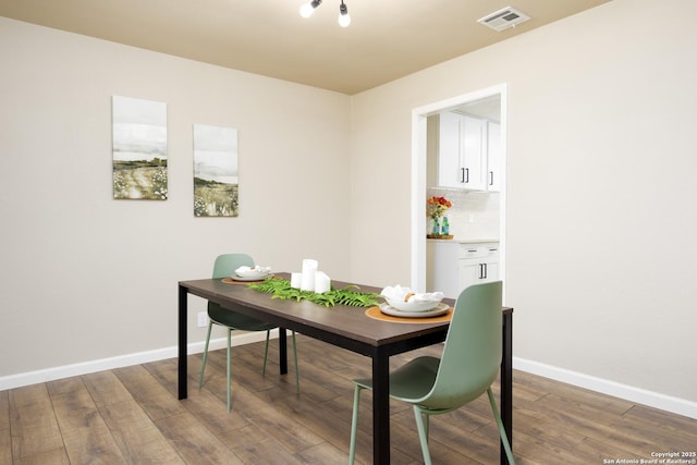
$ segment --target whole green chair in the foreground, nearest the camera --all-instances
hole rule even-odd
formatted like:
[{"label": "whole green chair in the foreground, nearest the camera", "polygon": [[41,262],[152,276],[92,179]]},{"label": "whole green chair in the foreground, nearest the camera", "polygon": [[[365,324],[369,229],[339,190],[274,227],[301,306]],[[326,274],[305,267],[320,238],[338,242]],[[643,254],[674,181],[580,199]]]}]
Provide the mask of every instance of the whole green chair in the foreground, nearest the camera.
[{"label": "whole green chair in the foreground, nearest the camera", "polygon": [[[441,358],[418,357],[390,374],[390,396],[414,407],[424,463],[427,465],[431,463],[428,450],[429,416],[457,409],[485,391],[489,395],[509,463],[515,463],[491,392],[491,383],[501,365],[501,281],[465,289],[455,303]],[[350,464],[354,463],[356,452],[360,392],[372,389],[372,380],[356,379],[354,384]]]}]

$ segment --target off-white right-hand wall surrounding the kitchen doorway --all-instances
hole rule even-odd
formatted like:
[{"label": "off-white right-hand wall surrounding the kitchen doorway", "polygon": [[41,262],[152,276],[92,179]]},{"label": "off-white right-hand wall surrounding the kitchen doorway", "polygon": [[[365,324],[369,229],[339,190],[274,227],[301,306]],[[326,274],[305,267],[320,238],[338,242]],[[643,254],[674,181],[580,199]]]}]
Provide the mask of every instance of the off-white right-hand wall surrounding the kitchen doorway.
[{"label": "off-white right-hand wall surrounding the kitchen doorway", "polygon": [[506,83],[515,356],[697,415],[696,15],[614,0],[355,96],[352,278],[409,282],[412,109]]}]

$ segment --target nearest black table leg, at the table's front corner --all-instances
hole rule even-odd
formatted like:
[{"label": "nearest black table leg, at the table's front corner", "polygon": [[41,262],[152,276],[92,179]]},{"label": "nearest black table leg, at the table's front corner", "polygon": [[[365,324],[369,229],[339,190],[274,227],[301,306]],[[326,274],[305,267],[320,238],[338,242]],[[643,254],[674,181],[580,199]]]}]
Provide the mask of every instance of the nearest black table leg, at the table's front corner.
[{"label": "nearest black table leg, at the table's front corner", "polygon": [[390,357],[372,356],[372,463],[390,463]]}]

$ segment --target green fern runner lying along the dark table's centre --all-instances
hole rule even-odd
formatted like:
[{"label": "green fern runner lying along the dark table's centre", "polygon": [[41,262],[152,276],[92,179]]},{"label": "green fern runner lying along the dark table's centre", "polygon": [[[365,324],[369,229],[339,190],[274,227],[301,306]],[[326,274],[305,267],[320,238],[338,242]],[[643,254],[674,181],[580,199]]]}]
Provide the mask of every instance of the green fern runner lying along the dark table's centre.
[{"label": "green fern runner lying along the dark table's centre", "polygon": [[280,278],[267,278],[259,283],[252,283],[249,289],[255,291],[272,294],[271,298],[280,298],[281,301],[288,301],[294,298],[299,301],[309,301],[325,307],[332,307],[334,305],[347,305],[350,307],[375,307],[380,305],[377,301],[380,298],[380,294],[372,292],[360,292],[357,285],[352,284],[344,289],[334,289],[331,291],[318,294],[313,291],[301,291],[299,289],[291,287],[289,280]]}]

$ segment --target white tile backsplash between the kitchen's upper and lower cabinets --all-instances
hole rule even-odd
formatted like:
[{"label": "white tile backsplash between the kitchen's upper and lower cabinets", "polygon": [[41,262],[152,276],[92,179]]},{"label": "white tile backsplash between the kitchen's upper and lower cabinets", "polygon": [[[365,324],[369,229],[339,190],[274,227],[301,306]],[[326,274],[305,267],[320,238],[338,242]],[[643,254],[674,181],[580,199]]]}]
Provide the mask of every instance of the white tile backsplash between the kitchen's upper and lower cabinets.
[{"label": "white tile backsplash between the kitchen's upper and lower cabinets", "polygon": [[448,220],[450,233],[455,238],[478,240],[500,236],[500,193],[429,187],[426,194],[427,198],[445,197],[453,204],[448,210]]}]

